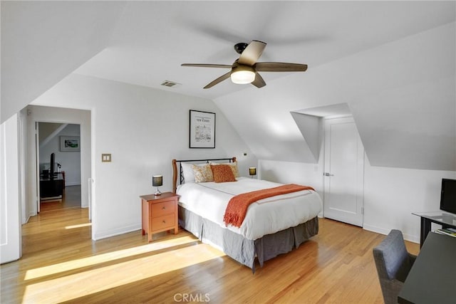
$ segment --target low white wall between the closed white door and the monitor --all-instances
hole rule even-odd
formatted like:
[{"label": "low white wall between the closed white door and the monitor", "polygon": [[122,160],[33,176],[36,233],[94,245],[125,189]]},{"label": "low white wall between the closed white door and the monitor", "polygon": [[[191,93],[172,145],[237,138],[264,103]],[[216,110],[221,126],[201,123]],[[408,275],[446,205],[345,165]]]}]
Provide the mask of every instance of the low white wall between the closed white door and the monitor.
[{"label": "low white wall between the closed white door and the monitor", "polygon": [[374,167],[365,162],[365,229],[388,234],[403,231],[404,238],[420,242],[420,217],[412,212],[437,211],[442,178],[456,179],[454,171]]}]

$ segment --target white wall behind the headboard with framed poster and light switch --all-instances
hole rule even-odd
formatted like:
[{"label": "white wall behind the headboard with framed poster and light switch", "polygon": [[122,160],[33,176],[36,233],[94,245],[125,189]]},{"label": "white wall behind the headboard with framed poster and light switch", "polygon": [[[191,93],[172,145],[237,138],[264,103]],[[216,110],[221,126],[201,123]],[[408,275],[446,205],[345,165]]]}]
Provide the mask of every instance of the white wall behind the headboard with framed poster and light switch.
[{"label": "white wall behind the headboard with framed poster and light switch", "polygon": [[[73,74],[33,104],[92,110],[93,239],[140,229],[139,196],[152,193],[152,174],[172,190],[172,159],[235,156],[246,176],[257,164],[211,100]],[[190,109],[216,113],[215,149],[189,148]]]}]

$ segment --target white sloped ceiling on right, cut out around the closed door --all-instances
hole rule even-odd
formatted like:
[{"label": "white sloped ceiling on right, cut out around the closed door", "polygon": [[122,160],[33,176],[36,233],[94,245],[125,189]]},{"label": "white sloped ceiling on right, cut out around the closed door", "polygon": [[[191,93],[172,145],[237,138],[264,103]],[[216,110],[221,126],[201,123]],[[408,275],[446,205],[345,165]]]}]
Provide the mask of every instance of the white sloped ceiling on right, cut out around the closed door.
[{"label": "white sloped ceiling on right, cut out around the closed door", "polygon": [[[347,103],[371,164],[455,171],[455,27],[449,23],[277,79],[261,94],[249,88],[215,102],[245,142],[281,147],[284,161],[315,162],[309,148],[289,150],[291,139],[300,143],[290,112]],[[278,157],[265,147],[252,150],[259,159]]]}]

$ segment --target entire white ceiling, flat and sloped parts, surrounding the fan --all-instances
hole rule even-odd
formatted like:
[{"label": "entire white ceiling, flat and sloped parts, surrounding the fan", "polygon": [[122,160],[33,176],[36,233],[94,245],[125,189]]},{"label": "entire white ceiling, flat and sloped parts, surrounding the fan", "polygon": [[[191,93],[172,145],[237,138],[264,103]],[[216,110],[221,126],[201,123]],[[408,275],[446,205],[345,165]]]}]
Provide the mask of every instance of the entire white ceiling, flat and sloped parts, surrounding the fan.
[{"label": "entire white ceiling, flat and sloped parts, surrounding the fan", "polygon": [[[180,67],[252,39],[309,70],[202,90],[224,72]],[[80,73],[212,99],[259,159],[315,162],[291,112],[347,103],[372,164],[456,167],[455,1],[1,1],[1,63],[2,122]]]}]

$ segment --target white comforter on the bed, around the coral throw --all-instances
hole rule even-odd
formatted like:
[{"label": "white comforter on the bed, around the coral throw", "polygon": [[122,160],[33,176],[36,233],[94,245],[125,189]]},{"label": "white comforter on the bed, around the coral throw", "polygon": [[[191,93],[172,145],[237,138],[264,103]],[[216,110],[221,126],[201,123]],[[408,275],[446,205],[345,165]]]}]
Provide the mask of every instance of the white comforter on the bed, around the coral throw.
[{"label": "white comforter on the bed, around the coral throw", "polygon": [[293,192],[261,199],[249,206],[241,227],[226,225],[224,211],[234,195],[280,186],[261,179],[238,177],[237,182],[188,183],[177,187],[179,204],[204,219],[256,240],[266,234],[302,224],[321,211],[321,198],[311,190]]}]

